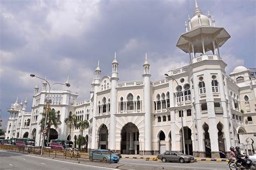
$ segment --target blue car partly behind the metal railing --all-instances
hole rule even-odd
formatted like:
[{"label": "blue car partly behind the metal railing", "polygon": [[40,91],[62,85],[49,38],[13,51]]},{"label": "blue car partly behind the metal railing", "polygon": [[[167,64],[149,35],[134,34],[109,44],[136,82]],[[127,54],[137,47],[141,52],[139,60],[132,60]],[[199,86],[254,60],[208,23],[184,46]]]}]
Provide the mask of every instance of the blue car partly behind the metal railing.
[{"label": "blue car partly behind the metal railing", "polygon": [[[110,157],[111,155],[111,157]],[[119,162],[119,157],[116,154],[112,154],[110,151],[107,150],[95,150],[89,153],[90,160],[100,160],[100,161],[110,161],[111,163]]]}]

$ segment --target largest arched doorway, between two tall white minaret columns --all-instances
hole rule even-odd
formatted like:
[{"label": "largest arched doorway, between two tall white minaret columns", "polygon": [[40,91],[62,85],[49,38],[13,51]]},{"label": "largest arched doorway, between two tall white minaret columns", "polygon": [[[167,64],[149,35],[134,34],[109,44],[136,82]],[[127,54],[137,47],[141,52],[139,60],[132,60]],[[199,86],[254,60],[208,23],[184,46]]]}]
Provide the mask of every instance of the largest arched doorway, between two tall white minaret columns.
[{"label": "largest arched doorway, between two tall white minaret columns", "polygon": [[139,129],[131,122],[121,130],[121,153],[139,154]]}]

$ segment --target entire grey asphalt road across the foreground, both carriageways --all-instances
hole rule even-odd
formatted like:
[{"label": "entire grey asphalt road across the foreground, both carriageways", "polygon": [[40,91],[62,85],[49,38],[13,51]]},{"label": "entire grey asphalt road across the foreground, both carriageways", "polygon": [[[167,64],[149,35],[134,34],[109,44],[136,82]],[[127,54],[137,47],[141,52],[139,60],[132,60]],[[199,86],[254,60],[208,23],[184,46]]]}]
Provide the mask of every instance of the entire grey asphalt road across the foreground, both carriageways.
[{"label": "entire grey asphalt road across the foreground, both carriageways", "polygon": [[[152,156],[152,155],[151,155]],[[135,169],[135,170],[160,170],[160,169],[228,169],[226,162],[192,162],[180,164],[178,162],[146,161],[145,159],[120,159],[117,164],[107,164],[98,161],[86,161],[86,159],[65,159],[49,157],[47,155],[21,154],[0,150],[0,169]]]}]

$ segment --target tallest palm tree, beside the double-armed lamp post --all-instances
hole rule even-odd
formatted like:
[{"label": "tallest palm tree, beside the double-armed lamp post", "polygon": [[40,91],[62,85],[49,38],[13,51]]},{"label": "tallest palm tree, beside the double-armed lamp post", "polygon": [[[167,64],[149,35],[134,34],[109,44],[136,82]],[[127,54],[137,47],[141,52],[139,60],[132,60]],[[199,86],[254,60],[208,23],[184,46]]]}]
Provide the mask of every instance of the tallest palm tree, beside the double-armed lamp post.
[{"label": "tallest palm tree, beside the double-armed lamp post", "polygon": [[[41,113],[41,115],[43,116],[41,121],[40,121],[40,124],[41,124],[41,129],[44,129],[44,123],[45,123],[45,116],[46,116],[46,113]],[[58,125],[61,124],[62,122],[60,122],[56,116],[56,112],[55,110],[51,110],[49,113],[48,113],[48,119],[47,119],[47,122],[46,122],[46,129],[48,129],[48,138],[47,138],[47,146],[49,144],[49,138],[50,138],[50,129],[51,129],[51,126],[53,125],[55,129],[58,128]]]}]

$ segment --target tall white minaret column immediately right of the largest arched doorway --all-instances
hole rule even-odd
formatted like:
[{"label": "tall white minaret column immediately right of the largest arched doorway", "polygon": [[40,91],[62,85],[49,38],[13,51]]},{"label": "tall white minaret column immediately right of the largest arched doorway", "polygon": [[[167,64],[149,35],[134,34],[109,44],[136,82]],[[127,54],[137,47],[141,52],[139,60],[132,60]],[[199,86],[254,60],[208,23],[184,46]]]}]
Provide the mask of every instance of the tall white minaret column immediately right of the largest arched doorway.
[{"label": "tall white minaret column immediately right of the largest arched doorway", "polygon": [[151,147],[151,87],[150,87],[150,63],[147,61],[147,53],[145,54],[145,62],[143,65],[144,74],[144,147],[145,154],[152,154]]}]

